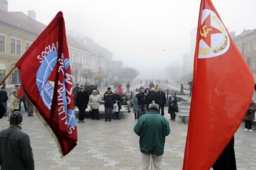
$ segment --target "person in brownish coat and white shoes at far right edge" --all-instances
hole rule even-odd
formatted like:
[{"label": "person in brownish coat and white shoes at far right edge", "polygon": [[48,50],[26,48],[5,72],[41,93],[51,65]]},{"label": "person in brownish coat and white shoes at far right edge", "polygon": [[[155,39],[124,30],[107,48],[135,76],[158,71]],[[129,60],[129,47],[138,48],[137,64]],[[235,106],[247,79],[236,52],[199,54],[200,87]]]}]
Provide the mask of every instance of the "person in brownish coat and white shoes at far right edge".
[{"label": "person in brownish coat and white shoes at far right edge", "polygon": [[249,109],[245,115],[245,131],[252,132],[252,122],[255,118],[255,111],[256,111],[256,103],[253,101],[249,105]]}]

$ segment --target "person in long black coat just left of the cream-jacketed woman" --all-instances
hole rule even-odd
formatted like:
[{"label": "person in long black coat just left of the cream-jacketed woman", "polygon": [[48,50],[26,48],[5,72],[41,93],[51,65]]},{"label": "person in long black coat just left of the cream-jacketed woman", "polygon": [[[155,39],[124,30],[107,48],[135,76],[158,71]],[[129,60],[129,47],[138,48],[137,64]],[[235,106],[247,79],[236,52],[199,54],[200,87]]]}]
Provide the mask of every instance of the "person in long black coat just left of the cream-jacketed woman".
[{"label": "person in long black coat just left of the cream-jacketed woman", "polygon": [[84,122],[84,116],[85,116],[85,109],[87,108],[87,104],[89,102],[89,95],[88,93],[84,90],[84,87],[80,87],[80,92],[76,94],[76,105],[79,109],[79,121]]}]

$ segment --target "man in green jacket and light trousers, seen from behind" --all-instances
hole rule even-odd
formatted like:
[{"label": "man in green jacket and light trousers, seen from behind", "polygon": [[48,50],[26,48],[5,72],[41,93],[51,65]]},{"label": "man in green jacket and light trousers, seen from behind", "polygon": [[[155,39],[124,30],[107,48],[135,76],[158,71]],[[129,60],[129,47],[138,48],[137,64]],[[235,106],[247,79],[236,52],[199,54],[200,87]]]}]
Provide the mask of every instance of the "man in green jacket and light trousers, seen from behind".
[{"label": "man in green jacket and light trousers, seen from behind", "polygon": [[142,115],[134,127],[139,136],[142,170],[148,170],[152,155],[154,169],[161,170],[165,137],[170,133],[169,122],[158,113],[158,104],[148,106],[149,112]]}]

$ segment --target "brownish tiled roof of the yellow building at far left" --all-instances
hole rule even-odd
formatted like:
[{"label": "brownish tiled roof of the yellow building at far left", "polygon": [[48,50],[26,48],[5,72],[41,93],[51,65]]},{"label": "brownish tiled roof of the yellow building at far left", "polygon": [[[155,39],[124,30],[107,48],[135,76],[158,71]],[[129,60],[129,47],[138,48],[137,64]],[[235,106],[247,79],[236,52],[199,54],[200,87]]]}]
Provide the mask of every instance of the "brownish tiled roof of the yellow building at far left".
[{"label": "brownish tiled roof of the yellow building at far left", "polygon": [[12,26],[34,35],[39,35],[46,27],[45,24],[33,20],[23,12],[6,12],[0,9],[0,23]]}]

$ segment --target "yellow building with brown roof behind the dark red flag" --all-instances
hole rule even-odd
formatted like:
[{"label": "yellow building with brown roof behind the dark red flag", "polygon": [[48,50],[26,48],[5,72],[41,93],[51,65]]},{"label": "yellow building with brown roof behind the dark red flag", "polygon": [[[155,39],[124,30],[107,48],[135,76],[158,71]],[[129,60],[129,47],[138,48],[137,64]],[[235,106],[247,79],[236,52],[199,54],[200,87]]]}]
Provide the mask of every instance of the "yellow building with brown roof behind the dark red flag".
[{"label": "yellow building with brown roof behind the dark red flag", "polygon": [[[35,20],[35,12],[8,12],[7,0],[0,1],[0,80],[15,66],[45,25]],[[15,69],[5,81],[18,84],[19,71]]]}]

